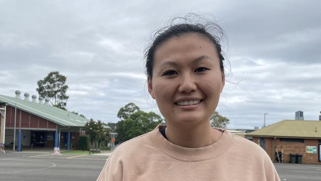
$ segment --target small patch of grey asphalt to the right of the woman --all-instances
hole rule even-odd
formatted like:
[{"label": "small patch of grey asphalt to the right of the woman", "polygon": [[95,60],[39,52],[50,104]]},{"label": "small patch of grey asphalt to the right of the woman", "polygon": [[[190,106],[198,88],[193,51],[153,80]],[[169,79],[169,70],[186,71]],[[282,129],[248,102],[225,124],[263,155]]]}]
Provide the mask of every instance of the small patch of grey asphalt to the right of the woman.
[{"label": "small patch of grey asphalt to the right of the woman", "polygon": [[321,165],[275,163],[281,181],[321,181]]}]

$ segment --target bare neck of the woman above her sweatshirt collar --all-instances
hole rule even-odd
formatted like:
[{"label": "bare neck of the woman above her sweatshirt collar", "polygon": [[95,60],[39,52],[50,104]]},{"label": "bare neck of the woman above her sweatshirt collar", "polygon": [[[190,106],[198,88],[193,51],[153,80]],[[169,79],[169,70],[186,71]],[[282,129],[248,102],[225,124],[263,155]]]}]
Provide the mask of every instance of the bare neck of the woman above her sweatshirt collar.
[{"label": "bare neck of the woman above her sweatshirt collar", "polygon": [[222,136],[222,133],[212,129],[209,123],[193,127],[167,124],[165,133],[170,142],[187,148],[209,146]]}]

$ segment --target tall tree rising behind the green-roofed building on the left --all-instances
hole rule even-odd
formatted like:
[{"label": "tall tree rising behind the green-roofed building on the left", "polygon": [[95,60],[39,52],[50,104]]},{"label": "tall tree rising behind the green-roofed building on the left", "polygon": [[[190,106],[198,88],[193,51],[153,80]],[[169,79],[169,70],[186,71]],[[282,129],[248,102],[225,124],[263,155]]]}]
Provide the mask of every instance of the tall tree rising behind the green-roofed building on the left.
[{"label": "tall tree rising behind the green-roofed building on the left", "polygon": [[50,72],[43,80],[38,81],[36,89],[40,96],[48,98],[51,105],[66,110],[66,95],[68,86],[66,84],[67,77],[60,75],[59,72]]}]

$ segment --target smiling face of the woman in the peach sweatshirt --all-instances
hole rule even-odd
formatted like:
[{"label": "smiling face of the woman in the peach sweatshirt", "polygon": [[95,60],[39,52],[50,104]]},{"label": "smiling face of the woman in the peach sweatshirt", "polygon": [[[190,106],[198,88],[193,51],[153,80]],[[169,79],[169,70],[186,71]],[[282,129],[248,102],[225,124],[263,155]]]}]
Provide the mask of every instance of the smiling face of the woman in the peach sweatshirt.
[{"label": "smiling face of the woman in the peach sweatshirt", "polygon": [[157,48],[148,90],[170,124],[208,122],[225,83],[214,45],[197,34]]}]

